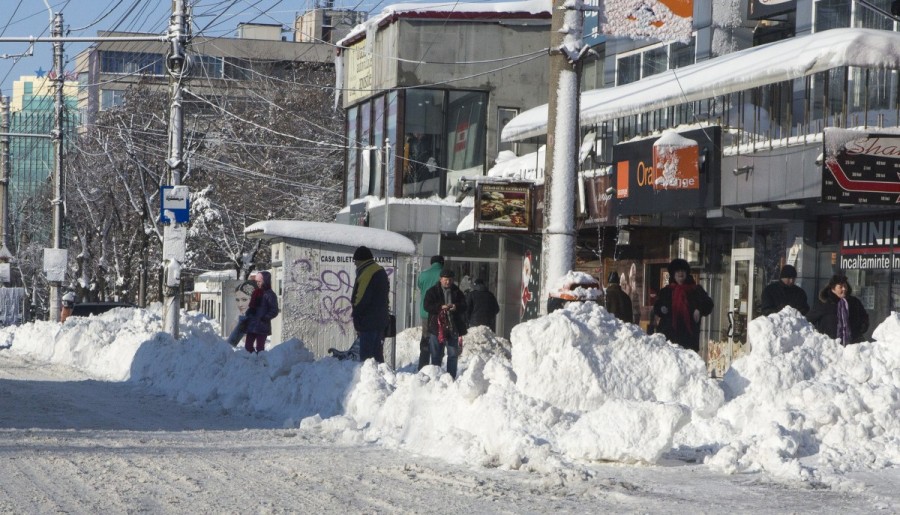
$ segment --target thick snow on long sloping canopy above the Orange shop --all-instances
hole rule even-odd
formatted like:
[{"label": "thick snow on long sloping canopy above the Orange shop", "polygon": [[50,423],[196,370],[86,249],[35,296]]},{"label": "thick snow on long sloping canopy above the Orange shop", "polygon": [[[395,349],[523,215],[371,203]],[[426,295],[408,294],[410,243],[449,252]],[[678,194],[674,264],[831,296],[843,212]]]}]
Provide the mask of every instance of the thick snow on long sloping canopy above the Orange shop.
[{"label": "thick snow on long sloping canopy above the Orange shop", "polygon": [[[614,88],[582,93],[580,124],[645,113],[685,102],[793,80],[843,66],[900,69],[900,34],[832,29],[727,54]],[[547,105],[506,125],[503,141],[547,132]]]}]

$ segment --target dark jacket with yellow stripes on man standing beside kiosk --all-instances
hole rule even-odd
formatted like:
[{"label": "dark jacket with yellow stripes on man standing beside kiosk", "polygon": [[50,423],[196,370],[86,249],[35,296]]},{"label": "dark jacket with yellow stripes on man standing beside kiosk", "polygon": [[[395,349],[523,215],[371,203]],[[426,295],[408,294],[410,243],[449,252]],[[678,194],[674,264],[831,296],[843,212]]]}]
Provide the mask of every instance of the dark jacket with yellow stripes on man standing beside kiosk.
[{"label": "dark jacket with yellow stripes on man standing beside kiosk", "polygon": [[350,301],[353,328],[357,332],[383,331],[387,327],[389,294],[387,272],[374,259],[367,259],[356,267]]}]

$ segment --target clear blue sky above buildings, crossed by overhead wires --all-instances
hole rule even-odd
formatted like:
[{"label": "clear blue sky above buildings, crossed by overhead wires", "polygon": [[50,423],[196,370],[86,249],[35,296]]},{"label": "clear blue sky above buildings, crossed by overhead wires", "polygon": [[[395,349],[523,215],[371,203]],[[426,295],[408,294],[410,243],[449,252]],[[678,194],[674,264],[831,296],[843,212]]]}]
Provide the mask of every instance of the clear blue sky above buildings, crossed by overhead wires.
[{"label": "clear blue sky above buildings, crossed by overhead wires", "polygon": [[[231,36],[240,22],[281,23],[286,27],[298,12],[314,0],[185,0],[193,6],[195,33]],[[0,37],[50,35],[50,11],[63,14],[63,24],[71,37],[92,37],[101,30],[123,30],[162,34],[172,12],[171,0],[0,0]],[[346,7],[370,3],[349,3]],[[344,6],[342,0],[335,5]],[[74,69],[74,58],[89,43],[66,43],[66,70]],[[28,43],[0,42],[0,56],[18,56],[28,51]],[[50,70],[51,43],[35,43],[34,55],[0,58],[0,91],[9,96],[12,84],[22,75]]]}]

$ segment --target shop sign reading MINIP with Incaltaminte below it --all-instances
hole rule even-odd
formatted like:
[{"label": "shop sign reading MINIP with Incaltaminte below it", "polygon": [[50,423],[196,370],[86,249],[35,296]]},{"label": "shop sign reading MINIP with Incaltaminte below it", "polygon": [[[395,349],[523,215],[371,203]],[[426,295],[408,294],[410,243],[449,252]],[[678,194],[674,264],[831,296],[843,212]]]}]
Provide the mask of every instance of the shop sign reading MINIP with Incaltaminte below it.
[{"label": "shop sign reading MINIP with Incaltaminte below it", "polygon": [[841,268],[900,269],[900,216],[845,221],[841,226]]}]

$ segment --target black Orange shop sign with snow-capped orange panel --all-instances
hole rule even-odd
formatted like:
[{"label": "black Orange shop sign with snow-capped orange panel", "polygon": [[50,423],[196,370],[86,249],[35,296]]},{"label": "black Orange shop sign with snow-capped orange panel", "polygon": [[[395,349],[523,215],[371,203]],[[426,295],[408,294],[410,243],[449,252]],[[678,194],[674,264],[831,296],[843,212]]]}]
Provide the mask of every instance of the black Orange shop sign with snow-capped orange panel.
[{"label": "black Orange shop sign with snow-capped orange panel", "polygon": [[708,127],[613,147],[616,215],[717,207],[720,141]]}]

